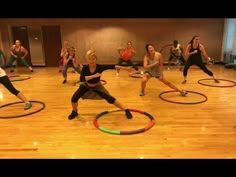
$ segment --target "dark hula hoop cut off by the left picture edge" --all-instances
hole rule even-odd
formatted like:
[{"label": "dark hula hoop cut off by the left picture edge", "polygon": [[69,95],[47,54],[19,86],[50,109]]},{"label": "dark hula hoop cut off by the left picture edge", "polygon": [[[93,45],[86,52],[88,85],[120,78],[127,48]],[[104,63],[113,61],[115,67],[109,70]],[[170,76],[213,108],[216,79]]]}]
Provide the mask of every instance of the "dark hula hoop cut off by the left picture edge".
[{"label": "dark hula hoop cut off by the left picture edge", "polygon": [[[19,102],[8,103],[8,104],[0,106],[0,109],[3,108],[3,107],[6,107],[6,106],[18,104],[18,103],[23,103],[23,102],[19,101]],[[41,102],[41,101],[30,101],[30,103],[40,103],[42,105],[42,107],[38,110],[33,111],[33,112],[29,112],[29,113],[26,113],[26,114],[20,114],[20,115],[16,115],[16,116],[2,116],[2,114],[1,114],[0,119],[19,118],[19,117],[28,116],[28,115],[31,115],[31,114],[42,111],[46,106],[45,103]]]}]

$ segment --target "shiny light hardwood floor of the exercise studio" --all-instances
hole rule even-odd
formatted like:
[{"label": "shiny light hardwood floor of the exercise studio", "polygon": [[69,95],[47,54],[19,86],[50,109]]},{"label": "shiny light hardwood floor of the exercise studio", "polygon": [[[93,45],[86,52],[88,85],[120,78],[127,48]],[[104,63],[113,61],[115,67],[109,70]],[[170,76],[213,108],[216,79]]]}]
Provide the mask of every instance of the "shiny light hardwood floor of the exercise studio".
[{"label": "shiny light hardwood floor of the exercise studio", "polygon": [[[223,65],[207,65],[220,79],[236,82],[236,70]],[[0,158],[236,158],[236,86],[209,87],[198,83],[209,78],[199,69],[190,69],[188,82],[182,85],[182,72],[165,70],[165,77],[180,88],[205,94],[208,100],[200,104],[175,104],[163,101],[159,94],[171,90],[159,80],[147,83],[146,95],[139,96],[140,78],[121,71],[107,70],[102,79],[105,87],[128,108],[148,112],[155,125],[148,131],[133,135],[113,135],[95,128],[93,120],[98,113],[115,109],[105,100],[80,100],[79,117],[68,120],[71,96],[78,88],[74,81],[78,74],[68,73],[68,83],[62,84],[58,68],[18,68],[9,75],[31,75],[31,79],[13,82],[29,99],[44,102],[44,110],[21,118],[0,119]],[[213,83],[213,81],[205,81]],[[221,81],[217,85],[230,85]],[[197,102],[204,98],[189,93],[163,95],[173,101]],[[19,100],[0,85],[0,105]],[[24,111],[23,104],[0,109],[0,116],[30,113],[42,105],[33,103]],[[113,112],[99,119],[100,126],[111,130],[136,130],[149,124],[149,119],[133,112],[128,120],[123,112]]]}]

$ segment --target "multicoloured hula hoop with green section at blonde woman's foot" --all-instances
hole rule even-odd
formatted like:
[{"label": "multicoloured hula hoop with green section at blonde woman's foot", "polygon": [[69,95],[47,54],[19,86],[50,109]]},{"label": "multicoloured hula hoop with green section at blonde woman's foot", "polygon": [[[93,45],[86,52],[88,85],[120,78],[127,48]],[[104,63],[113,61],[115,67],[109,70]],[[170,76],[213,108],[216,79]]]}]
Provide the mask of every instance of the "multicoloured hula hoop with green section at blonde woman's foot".
[{"label": "multicoloured hula hoop with green section at blonde woman's foot", "polygon": [[97,120],[98,120],[100,117],[102,117],[103,115],[109,114],[109,113],[111,113],[111,112],[118,112],[118,111],[122,111],[122,110],[120,110],[120,109],[115,109],[115,110],[104,111],[104,112],[99,113],[98,115],[96,115],[95,119],[93,120],[94,126],[95,126],[97,129],[99,129],[99,130],[101,130],[101,131],[103,131],[103,132],[105,132],[105,133],[110,133],[110,134],[114,134],[114,135],[131,135],[131,134],[137,134],[137,133],[145,132],[145,131],[151,129],[151,128],[154,126],[154,124],[155,124],[155,120],[154,120],[154,118],[153,118],[153,116],[152,116],[151,114],[149,114],[149,113],[147,113],[147,112],[143,112],[143,111],[141,111],[141,110],[136,110],[136,109],[129,109],[129,111],[131,111],[131,112],[138,112],[138,113],[140,113],[140,114],[144,114],[145,116],[147,116],[147,117],[150,119],[150,124],[149,124],[149,125],[147,125],[147,126],[144,127],[144,128],[137,129],[137,130],[119,131],[119,130],[109,130],[109,129],[106,129],[106,128],[104,128],[104,127],[101,127],[101,126],[98,124]]}]

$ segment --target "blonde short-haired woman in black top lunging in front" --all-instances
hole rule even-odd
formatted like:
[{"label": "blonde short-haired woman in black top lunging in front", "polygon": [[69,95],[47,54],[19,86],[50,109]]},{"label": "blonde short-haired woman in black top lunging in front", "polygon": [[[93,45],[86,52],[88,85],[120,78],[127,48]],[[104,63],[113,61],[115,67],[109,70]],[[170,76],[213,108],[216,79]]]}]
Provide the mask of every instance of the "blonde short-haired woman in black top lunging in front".
[{"label": "blonde short-haired woman in black top lunging in front", "polygon": [[75,91],[71,98],[72,112],[68,116],[69,120],[78,116],[78,100],[83,99],[105,99],[108,103],[114,104],[116,107],[124,110],[128,119],[133,116],[130,111],[125,108],[116,98],[111,96],[106,88],[101,84],[100,79],[102,72],[107,69],[124,69],[131,70],[131,67],[122,67],[118,65],[100,65],[97,64],[97,55],[93,50],[86,53],[88,65],[84,65],[80,73],[80,87]]}]

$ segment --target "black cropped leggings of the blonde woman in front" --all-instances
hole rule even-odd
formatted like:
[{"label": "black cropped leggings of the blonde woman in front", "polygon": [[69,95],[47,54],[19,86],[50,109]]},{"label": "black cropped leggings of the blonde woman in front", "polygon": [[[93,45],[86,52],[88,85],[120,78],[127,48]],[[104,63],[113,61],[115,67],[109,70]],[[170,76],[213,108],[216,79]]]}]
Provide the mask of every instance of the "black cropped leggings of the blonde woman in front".
[{"label": "black cropped leggings of the blonde woman in front", "polygon": [[[71,98],[71,102],[72,103],[76,103],[89,90],[90,89],[88,87],[86,87],[84,85],[80,85],[80,87],[73,94],[73,96]],[[102,98],[104,98],[110,104],[114,104],[114,102],[116,101],[116,99],[113,96],[111,96],[111,95],[108,95],[106,93],[103,93],[103,92],[101,92],[99,90],[95,90],[95,89],[93,91],[96,92]]]}]

